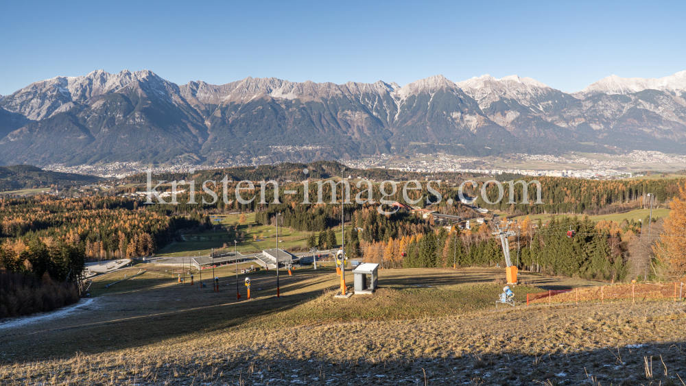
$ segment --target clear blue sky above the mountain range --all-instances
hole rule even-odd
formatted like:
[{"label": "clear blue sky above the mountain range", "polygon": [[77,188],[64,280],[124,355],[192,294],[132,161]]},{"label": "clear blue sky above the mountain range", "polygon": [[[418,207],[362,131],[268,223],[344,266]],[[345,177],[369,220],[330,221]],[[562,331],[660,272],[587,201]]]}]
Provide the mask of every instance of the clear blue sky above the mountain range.
[{"label": "clear blue sky above the mountain range", "polygon": [[563,91],[686,70],[686,1],[9,1],[0,95],[96,69],[185,84],[455,82],[516,73]]}]

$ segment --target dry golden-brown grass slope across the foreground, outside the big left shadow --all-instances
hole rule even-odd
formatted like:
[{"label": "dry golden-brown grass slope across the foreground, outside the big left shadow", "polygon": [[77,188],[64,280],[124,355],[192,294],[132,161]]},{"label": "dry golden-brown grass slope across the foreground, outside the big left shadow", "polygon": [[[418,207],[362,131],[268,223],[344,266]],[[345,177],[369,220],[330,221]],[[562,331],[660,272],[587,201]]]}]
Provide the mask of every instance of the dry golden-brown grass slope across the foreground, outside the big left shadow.
[{"label": "dry golden-brown grass slope across the foreground, outside the big left shadow", "polygon": [[[281,272],[279,299],[273,270],[249,275],[252,300],[239,275],[237,301],[233,266],[215,270],[219,293],[180,285],[168,269],[138,265],[97,278],[92,302],[69,317],[0,324],[0,384],[683,385],[685,378],[679,303],[496,309],[504,277],[497,268],[384,269],[374,295],[343,300],[333,298],[338,276],[330,267]],[[521,280],[518,300],[600,284]]]}]

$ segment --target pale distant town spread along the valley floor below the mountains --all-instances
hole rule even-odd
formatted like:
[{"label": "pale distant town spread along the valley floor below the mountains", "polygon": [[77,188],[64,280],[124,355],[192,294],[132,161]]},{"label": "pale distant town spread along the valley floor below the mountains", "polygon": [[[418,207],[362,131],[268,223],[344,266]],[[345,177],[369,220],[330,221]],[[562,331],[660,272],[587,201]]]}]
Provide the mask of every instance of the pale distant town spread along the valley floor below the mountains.
[{"label": "pale distant town spread along the valley floor below the mountains", "polygon": [[[303,150],[294,146],[274,146],[278,151]],[[303,147],[305,148],[305,147]],[[315,148],[307,146],[307,149]],[[51,164],[45,170],[61,173],[77,173],[101,178],[126,178],[134,174],[146,173],[188,173],[191,171],[223,169],[227,167],[246,167],[275,165],[281,163],[265,162],[266,156],[237,158],[233,162],[213,165],[193,165],[181,162],[171,165],[146,165],[141,162],[112,162],[102,165]],[[303,162],[309,162],[303,160]],[[445,153],[394,155],[379,154],[357,159],[339,159],[338,162],[355,169],[394,169],[400,171],[463,172],[500,175],[504,173],[523,176],[549,176],[569,178],[615,179],[641,177],[648,171],[674,173],[686,170],[686,156],[664,154],[662,152],[634,150],[627,154],[571,153],[563,156],[542,154],[513,154],[508,157],[460,157]]]}]

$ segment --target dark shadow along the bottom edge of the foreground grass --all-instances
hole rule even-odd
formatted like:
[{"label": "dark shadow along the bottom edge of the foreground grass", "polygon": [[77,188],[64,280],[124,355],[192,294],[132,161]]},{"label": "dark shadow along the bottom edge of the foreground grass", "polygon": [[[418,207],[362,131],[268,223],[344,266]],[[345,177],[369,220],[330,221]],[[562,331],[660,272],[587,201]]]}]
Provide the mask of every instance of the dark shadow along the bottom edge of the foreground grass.
[{"label": "dark shadow along the bottom edge of the foreground grass", "polygon": [[[469,353],[445,357],[416,354],[401,358],[354,359],[265,357],[260,350],[228,354],[218,367],[193,365],[200,373],[224,372],[222,384],[246,374],[241,384],[288,385],[682,385],[686,374],[683,341],[619,346],[581,352],[521,351]],[[235,356],[234,356],[235,355]]]}]

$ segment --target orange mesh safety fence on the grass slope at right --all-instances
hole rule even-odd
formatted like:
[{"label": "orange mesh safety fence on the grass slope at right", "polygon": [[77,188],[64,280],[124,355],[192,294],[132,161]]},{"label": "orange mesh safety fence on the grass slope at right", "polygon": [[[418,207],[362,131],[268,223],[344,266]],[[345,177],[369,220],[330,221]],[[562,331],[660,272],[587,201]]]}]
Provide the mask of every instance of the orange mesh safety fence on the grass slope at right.
[{"label": "orange mesh safety fence on the grass slope at right", "polygon": [[681,301],[683,282],[648,284],[631,283],[624,285],[603,285],[576,289],[549,290],[547,292],[527,293],[526,305],[532,303],[576,303],[600,300],[604,302],[628,301],[645,302],[648,300],[670,299]]}]

